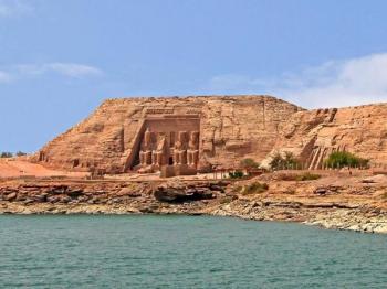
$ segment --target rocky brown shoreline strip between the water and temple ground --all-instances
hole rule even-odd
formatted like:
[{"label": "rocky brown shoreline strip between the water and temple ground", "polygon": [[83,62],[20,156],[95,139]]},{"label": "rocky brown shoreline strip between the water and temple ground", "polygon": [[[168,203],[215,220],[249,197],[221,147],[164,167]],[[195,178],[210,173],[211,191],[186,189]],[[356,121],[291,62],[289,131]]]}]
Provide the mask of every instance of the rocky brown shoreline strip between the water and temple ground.
[{"label": "rocky brown shoreline strip between the water and temple ground", "polygon": [[[387,182],[364,180],[8,180],[0,182],[0,214],[205,214],[387,233]],[[268,191],[243,191],[264,181]]]}]

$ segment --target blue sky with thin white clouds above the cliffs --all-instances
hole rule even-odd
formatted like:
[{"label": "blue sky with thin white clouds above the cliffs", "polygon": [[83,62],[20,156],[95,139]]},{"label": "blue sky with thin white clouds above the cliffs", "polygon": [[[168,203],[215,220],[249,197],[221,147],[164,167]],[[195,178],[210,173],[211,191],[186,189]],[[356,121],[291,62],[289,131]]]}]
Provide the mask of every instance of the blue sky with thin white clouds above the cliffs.
[{"label": "blue sky with thin white clouds above the cliffs", "polygon": [[0,151],[35,151],[112,97],[387,101],[386,11],[384,0],[0,0]]}]

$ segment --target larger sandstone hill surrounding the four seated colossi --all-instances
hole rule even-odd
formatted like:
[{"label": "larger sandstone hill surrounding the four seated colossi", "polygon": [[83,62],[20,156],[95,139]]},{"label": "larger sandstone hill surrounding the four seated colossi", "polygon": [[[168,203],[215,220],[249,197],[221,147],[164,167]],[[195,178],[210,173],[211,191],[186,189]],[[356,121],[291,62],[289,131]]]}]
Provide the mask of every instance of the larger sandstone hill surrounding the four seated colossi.
[{"label": "larger sandstone hill surrounding the four seated colossi", "polygon": [[[234,165],[242,158],[260,161],[297,111],[302,109],[270,96],[109,99],[49,142],[33,160],[55,169],[106,173],[127,172],[147,162],[168,163],[160,154],[165,150],[192,165],[198,158],[199,169]],[[144,143],[146,131],[155,131],[158,138],[149,142],[159,144],[150,157]],[[179,133],[192,136],[184,150],[175,141]],[[196,138],[199,156],[192,144]]]}]

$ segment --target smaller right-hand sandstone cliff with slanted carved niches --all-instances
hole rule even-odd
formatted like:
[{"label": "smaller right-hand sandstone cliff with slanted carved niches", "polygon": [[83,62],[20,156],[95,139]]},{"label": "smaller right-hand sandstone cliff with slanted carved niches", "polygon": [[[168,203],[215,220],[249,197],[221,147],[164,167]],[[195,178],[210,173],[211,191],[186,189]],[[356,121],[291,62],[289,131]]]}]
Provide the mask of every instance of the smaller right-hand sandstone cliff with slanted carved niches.
[{"label": "smaller right-hand sandstone cliff with slanted carved niches", "polygon": [[[320,169],[333,151],[349,151],[387,164],[387,104],[297,111],[283,127],[274,151],[291,151]],[[264,160],[269,163],[270,157]]]}]

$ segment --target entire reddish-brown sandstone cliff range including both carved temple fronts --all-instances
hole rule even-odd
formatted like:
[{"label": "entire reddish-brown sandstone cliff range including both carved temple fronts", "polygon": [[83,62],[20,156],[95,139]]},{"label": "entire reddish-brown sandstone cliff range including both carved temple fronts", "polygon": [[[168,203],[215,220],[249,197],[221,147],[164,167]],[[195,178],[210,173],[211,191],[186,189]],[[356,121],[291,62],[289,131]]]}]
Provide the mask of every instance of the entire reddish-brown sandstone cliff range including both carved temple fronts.
[{"label": "entire reddish-brown sandstone cliff range including both carved temple fronts", "polygon": [[271,96],[121,98],[104,101],[33,161],[67,171],[195,174],[263,165],[291,151],[310,169],[347,150],[387,163],[387,105],[305,110]]}]

